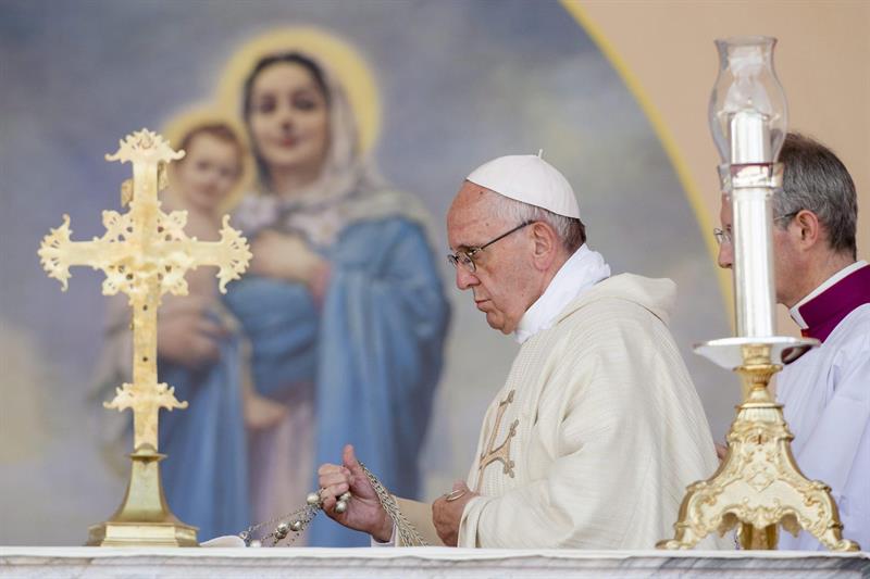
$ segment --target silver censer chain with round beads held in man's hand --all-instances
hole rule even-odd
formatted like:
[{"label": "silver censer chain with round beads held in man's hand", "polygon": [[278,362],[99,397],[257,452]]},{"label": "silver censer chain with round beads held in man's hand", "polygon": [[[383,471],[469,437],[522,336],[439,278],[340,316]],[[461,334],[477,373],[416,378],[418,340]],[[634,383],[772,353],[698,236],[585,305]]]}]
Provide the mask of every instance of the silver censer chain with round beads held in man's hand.
[{"label": "silver censer chain with round beads held in man's hand", "polygon": [[[362,471],[365,474],[365,477],[369,479],[369,482],[372,484],[372,489],[374,489],[381,506],[396,526],[396,531],[398,532],[402,545],[427,546],[428,543],[423,540],[414,526],[411,525],[408,518],[406,518],[406,516],[402,514],[398,503],[396,502],[396,498],[389,493],[389,491],[381,483],[377,477],[375,477],[364,464],[360,463],[360,466],[362,467]],[[316,496],[316,500],[313,500],[313,496]],[[308,504],[306,506],[297,508],[296,511],[284,516],[275,517],[271,520],[259,523],[257,525],[251,525],[238,533],[238,536],[243,541],[245,541],[246,546],[262,546],[263,542],[265,541],[271,541],[270,546],[276,546],[281,541],[287,538],[289,538],[287,541],[287,544],[289,544],[293,543],[302,532],[304,532],[306,528],[308,528],[311,521],[314,520],[314,517],[318,516],[318,513],[322,509],[323,500],[318,493],[311,493],[309,494]],[[264,527],[271,527],[273,525],[275,525],[275,527],[272,532],[262,536],[260,539],[254,538],[254,533],[258,530]]]}]

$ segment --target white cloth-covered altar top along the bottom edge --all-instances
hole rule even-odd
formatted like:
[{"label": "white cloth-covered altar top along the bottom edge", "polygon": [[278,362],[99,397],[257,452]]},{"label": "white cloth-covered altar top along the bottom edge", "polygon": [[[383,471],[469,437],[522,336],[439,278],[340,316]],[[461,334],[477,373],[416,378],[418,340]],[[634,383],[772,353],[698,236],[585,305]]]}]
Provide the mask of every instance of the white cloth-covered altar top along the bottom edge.
[{"label": "white cloth-covered altar top along the bottom edge", "polygon": [[870,553],[0,547],[0,579],[253,577],[870,577]]}]

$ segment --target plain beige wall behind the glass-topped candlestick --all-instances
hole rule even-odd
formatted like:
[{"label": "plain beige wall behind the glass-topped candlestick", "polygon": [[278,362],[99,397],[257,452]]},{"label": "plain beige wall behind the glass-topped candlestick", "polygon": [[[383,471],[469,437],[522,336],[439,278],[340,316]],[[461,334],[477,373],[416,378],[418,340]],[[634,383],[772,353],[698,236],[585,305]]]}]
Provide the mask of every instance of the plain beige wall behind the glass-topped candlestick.
[{"label": "plain beige wall behind the glass-topped candlestick", "polygon": [[[707,125],[717,74],[713,39],[779,39],[776,73],[788,99],[788,126],[831,147],[858,189],[858,257],[870,259],[870,1],[581,1],[589,33],[600,35],[675,146],[685,178],[718,223],[719,155]],[[661,131],[660,131],[661,133]],[[779,328],[795,333],[785,310]]]}]

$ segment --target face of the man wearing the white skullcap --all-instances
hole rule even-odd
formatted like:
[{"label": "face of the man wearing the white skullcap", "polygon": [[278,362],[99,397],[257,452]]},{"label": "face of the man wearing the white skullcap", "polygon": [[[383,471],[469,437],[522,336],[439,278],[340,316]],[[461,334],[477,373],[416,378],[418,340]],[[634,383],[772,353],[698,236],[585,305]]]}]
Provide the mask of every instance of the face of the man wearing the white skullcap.
[{"label": "face of the man wearing the white skullcap", "polygon": [[[465,181],[447,213],[447,238],[451,251],[481,247],[517,227],[515,223],[493,216],[492,191]],[[458,264],[456,286],[471,289],[477,310],[486,314],[489,327],[510,333],[525,311],[537,299],[539,286],[532,267],[533,242],[529,228],[507,236],[474,256],[475,272]]]}]

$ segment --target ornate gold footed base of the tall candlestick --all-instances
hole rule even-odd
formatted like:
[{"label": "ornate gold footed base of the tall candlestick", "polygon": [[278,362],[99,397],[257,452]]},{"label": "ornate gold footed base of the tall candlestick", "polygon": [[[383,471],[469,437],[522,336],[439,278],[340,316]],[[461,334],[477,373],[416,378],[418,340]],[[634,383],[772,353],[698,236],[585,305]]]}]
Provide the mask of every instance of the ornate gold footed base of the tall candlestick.
[{"label": "ornate gold footed base of the tall candlestick", "polygon": [[744,401],[728,435],[728,455],[713,476],[688,487],[674,525],[673,539],[658,549],[692,549],[712,531],[738,527],[743,549],[776,549],[779,525],[793,534],[803,528],[832,551],[858,551],[843,539],[843,524],[831,489],[808,480],[795,464],[782,405],[768,392],[771,376],[782,366],[771,363],[770,344],[743,347],[743,365],[735,368]]}]

